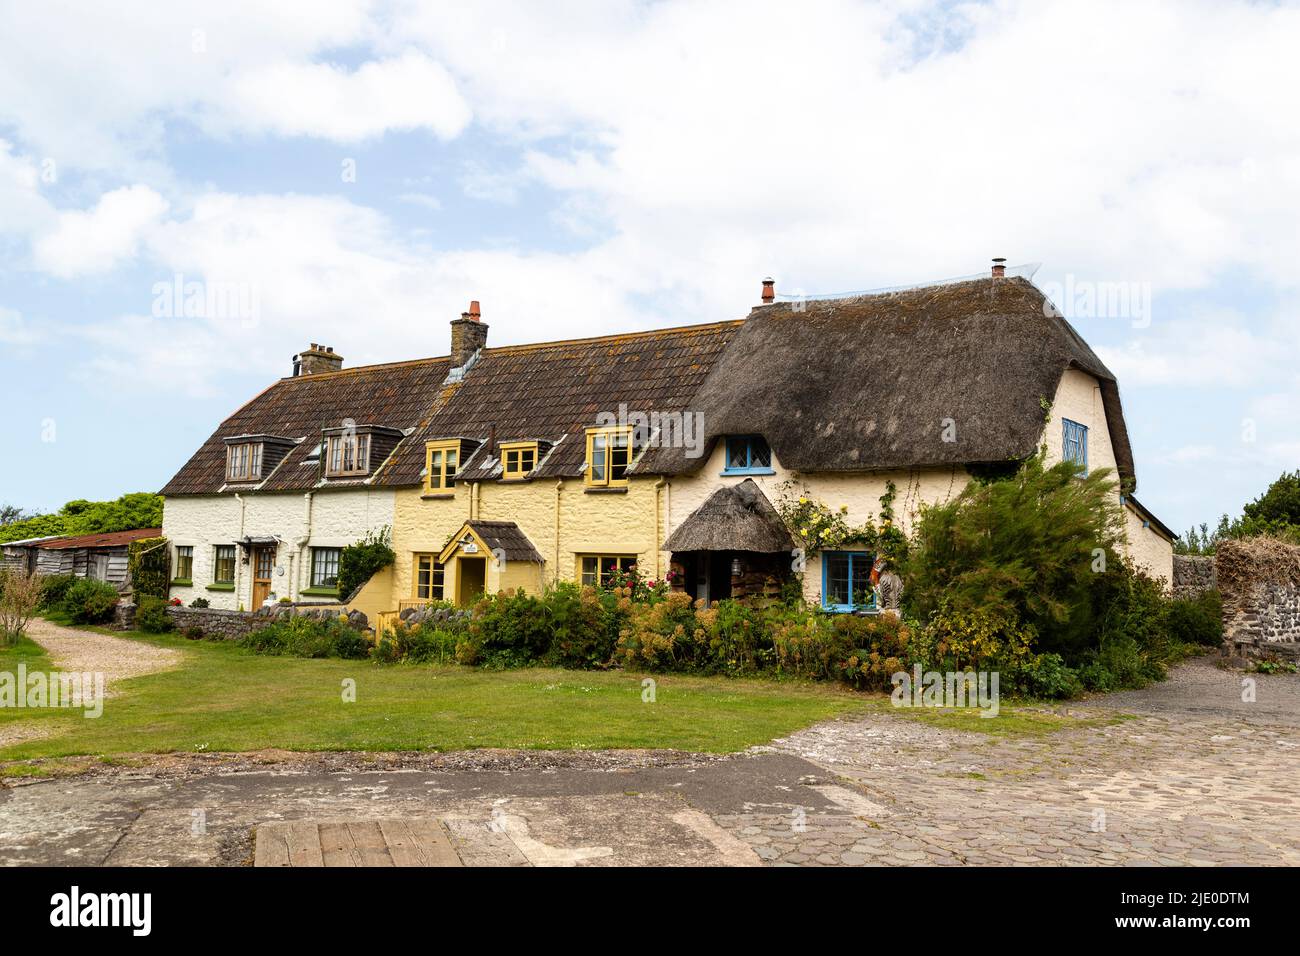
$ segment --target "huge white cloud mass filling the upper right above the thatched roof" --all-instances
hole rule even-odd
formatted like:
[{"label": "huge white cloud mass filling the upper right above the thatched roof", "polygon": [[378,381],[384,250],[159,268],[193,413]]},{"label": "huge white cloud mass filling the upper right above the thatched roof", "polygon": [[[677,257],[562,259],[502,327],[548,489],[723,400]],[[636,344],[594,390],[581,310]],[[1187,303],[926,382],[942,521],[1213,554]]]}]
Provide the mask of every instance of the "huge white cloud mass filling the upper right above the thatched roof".
[{"label": "huge white cloud mass filling the upper right above the thatched roof", "polygon": [[766,272],[829,291],[991,255],[1157,293],[1300,281],[1294,8],[494,3],[391,35],[666,285],[748,302]]}]

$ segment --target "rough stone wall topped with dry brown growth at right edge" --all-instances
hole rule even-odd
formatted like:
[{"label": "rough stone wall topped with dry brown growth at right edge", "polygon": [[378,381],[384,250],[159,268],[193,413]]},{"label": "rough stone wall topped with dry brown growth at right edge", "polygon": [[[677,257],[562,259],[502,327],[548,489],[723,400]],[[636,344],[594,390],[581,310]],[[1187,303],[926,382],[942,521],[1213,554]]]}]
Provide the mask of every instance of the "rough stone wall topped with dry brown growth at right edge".
[{"label": "rough stone wall topped with dry brown growth at right edge", "polygon": [[1300,653],[1300,548],[1273,538],[1226,541],[1216,554],[1223,635],[1247,656]]}]

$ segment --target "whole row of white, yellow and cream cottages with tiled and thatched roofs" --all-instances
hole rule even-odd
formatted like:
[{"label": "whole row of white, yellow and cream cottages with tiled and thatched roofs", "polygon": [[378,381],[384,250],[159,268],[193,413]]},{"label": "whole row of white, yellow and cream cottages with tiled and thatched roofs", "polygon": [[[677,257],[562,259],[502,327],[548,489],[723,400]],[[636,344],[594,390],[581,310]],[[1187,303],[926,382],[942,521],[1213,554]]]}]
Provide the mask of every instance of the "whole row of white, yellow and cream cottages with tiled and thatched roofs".
[{"label": "whole row of white, yellow and cream cottages with tiled and thatched roofs", "polygon": [[632,564],[706,600],[779,587],[870,609],[872,555],[792,559],[807,496],[850,524],[888,481],[906,531],[978,466],[1112,468],[1128,549],[1171,579],[1173,535],[1132,497],[1114,376],[1032,284],[993,274],[779,303],[686,328],[489,349],[477,303],[443,358],[343,368],[329,347],[239,408],[162,489],[173,594],[217,607],[337,600],[341,550],[391,529],[368,614]]}]

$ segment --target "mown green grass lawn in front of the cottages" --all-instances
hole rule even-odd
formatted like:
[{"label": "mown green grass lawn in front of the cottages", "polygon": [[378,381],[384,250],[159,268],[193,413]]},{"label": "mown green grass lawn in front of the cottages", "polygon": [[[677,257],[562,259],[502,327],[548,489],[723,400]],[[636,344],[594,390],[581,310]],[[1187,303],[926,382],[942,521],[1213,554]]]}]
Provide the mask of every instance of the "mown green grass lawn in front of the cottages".
[{"label": "mown green grass lawn in front of the cottages", "polygon": [[[104,714],[0,709],[48,736],[0,747],[0,761],[174,750],[456,750],[671,748],[731,752],[866,706],[835,687],[771,680],[263,657],[216,641],[118,633],[185,653],[179,670],[118,683]],[[0,671],[49,670],[31,641],[0,649]],[[356,702],[343,702],[343,682]]]}]

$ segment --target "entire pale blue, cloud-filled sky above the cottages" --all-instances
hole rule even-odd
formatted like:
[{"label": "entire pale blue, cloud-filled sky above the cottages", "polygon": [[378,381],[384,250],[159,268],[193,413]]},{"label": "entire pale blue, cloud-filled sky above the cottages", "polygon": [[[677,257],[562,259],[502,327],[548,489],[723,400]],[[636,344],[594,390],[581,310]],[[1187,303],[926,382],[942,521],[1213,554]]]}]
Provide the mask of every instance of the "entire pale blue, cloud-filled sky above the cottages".
[{"label": "entire pale blue, cloud-filled sky above the cottages", "polygon": [[1135,297],[1061,304],[1166,523],[1300,467],[1295,5],[207,7],[0,3],[0,502],[157,489],[308,342],[472,298],[504,345],[994,255]]}]

